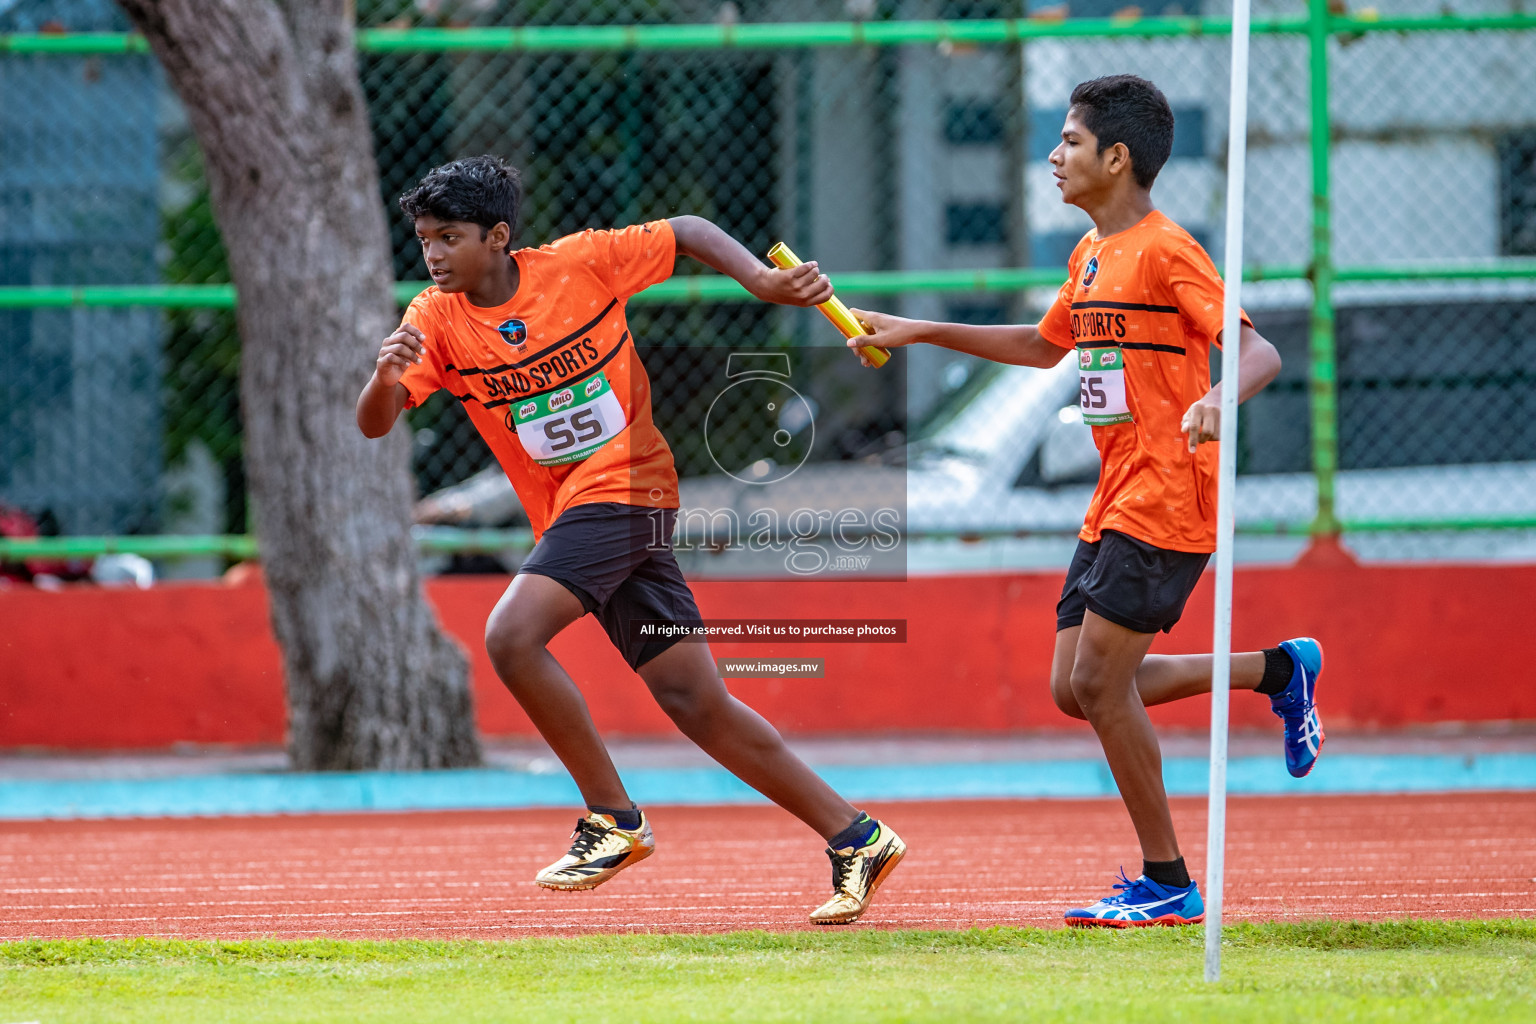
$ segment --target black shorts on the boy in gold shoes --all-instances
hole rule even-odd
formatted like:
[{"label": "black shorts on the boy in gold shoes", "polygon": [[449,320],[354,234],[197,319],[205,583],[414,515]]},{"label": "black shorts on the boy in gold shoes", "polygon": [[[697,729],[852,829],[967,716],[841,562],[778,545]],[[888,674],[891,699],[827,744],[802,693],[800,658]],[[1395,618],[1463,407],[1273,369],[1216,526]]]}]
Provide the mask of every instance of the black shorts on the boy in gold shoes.
[{"label": "black shorts on the boy in gold shoes", "polygon": [[548,576],[576,594],[630,668],[639,668],[677,639],[639,640],[631,636],[631,622],[703,625],[671,551],[676,522],[676,508],[576,505],[550,524],[518,571]]}]

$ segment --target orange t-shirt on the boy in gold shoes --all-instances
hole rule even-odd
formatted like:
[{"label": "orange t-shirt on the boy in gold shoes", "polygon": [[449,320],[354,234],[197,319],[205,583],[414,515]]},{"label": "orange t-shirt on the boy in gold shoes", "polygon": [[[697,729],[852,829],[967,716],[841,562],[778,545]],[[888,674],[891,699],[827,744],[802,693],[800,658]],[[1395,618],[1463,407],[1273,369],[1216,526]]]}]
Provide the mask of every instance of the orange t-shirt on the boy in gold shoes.
[{"label": "orange t-shirt on the boy in gold shoes", "polygon": [[535,537],[573,505],[677,508],[677,470],[624,318],[625,299],[671,276],[671,224],[585,230],[513,258],[518,292],[501,306],[435,286],[412,301],[402,322],[427,342],[401,378],[407,407],[439,387],[464,402]]}]

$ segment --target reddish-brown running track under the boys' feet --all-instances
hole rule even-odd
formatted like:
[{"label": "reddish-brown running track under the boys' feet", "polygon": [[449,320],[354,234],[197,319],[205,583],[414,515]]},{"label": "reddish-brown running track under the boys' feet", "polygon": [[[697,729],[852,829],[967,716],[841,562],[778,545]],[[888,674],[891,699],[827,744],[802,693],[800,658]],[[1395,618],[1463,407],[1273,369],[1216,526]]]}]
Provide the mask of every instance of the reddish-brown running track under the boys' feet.
[{"label": "reddish-brown running track under the boys' feet", "polygon": [[[1114,800],[871,806],[906,861],[856,927],[1055,926],[1132,874]],[[1204,801],[1174,801],[1195,877]],[[0,823],[0,940],[519,938],[811,927],[822,844],[766,806],[656,808],[657,854],[538,889],[574,812]],[[1536,792],[1244,797],[1227,920],[1536,917]]]}]

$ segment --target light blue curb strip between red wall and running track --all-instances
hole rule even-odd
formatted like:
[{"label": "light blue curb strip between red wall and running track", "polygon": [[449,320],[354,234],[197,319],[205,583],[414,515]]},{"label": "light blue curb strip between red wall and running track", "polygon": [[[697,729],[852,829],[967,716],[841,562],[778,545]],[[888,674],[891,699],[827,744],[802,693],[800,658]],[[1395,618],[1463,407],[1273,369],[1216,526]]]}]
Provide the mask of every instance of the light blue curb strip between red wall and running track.
[{"label": "light blue curb strip between red wall and running track", "polygon": [[[820,774],[851,800],[963,800],[988,797],[1112,797],[1100,760],[971,761],[937,765],[831,765]],[[1209,763],[1170,757],[1163,775],[1172,795],[1203,795]],[[642,804],[762,803],[716,768],[631,769],[625,786]],[[1307,778],[1290,778],[1278,757],[1227,763],[1233,795],[1461,792],[1536,789],[1536,754],[1324,757]],[[352,811],[481,811],[576,808],[564,774],[508,769],[441,772],[227,774],[134,780],[0,781],[0,818],[138,818]]]}]

